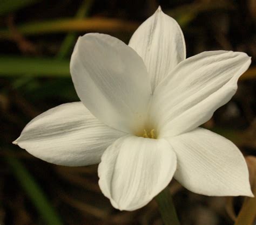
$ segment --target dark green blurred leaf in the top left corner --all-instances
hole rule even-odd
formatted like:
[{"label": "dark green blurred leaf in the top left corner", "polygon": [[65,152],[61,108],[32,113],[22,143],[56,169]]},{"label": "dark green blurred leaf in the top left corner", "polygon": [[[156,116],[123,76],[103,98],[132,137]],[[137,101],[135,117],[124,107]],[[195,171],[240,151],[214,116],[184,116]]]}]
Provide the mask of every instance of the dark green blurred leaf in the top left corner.
[{"label": "dark green blurred leaf in the top left corner", "polygon": [[41,0],[1,0],[0,16],[24,8],[28,5],[35,4]]}]

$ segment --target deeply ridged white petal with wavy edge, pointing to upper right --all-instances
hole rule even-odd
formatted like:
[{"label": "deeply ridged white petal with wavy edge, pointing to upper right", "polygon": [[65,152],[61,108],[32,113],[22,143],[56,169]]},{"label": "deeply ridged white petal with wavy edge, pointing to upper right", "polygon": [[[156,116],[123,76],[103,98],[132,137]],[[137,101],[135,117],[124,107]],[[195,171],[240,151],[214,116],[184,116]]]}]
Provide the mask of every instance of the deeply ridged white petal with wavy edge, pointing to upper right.
[{"label": "deeply ridged white petal with wavy edge, pointing to upper right", "polygon": [[250,64],[247,54],[231,51],[203,52],[180,62],[153,95],[151,119],[159,136],[175,136],[210,119],[230,101]]}]

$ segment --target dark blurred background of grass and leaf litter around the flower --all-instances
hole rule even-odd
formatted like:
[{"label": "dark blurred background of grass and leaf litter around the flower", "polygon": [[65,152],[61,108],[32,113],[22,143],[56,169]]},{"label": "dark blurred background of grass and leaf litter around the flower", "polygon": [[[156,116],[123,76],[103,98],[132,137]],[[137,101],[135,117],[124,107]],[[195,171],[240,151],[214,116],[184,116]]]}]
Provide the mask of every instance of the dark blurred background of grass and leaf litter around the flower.
[{"label": "dark blurred background of grass and leaf litter around the flower", "polygon": [[[162,224],[154,201],[133,212],[114,209],[99,190],[97,165],[56,166],[11,144],[33,117],[79,101],[68,68],[79,35],[103,32],[128,43],[158,5],[183,29],[187,57],[210,50],[252,57],[237,94],[204,126],[231,139],[245,156],[256,155],[255,0],[0,0],[0,224]],[[93,26],[57,24],[75,18],[82,7]],[[31,23],[30,31],[24,29]],[[244,201],[197,195],[174,180],[170,190],[185,225],[233,224]]]}]

